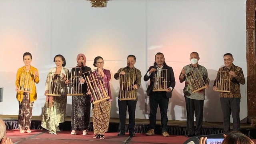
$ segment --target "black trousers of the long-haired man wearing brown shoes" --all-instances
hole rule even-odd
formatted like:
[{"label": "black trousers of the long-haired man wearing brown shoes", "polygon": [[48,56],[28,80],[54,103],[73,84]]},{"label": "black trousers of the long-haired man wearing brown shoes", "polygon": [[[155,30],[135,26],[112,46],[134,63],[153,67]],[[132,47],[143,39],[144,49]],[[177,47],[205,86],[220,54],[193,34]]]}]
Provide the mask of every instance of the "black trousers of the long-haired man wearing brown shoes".
[{"label": "black trousers of the long-haired man wearing brown shoes", "polygon": [[162,133],[167,132],[167,109],[169,98],[166,98],[165,92],[152,92],[149,96],[149,129],[154,129],[156,126],[156,112],[159,105],[160,113],[161,113],[161,125],[162,125]]}]

